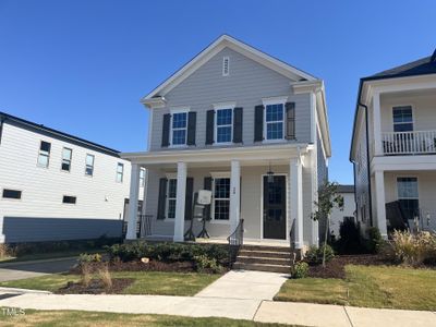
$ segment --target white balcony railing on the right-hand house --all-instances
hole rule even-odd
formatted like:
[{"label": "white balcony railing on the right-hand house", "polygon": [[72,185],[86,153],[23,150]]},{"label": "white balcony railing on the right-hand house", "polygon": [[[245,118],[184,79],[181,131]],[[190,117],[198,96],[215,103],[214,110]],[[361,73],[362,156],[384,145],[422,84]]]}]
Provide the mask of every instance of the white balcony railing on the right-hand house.
[{"label": "white balcony railing on the right-hand house", "polygon": [[436,154],[436,131],[382,133],[382,143],[387,156]]}]

